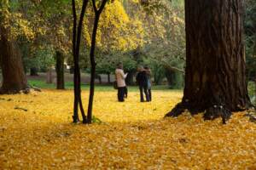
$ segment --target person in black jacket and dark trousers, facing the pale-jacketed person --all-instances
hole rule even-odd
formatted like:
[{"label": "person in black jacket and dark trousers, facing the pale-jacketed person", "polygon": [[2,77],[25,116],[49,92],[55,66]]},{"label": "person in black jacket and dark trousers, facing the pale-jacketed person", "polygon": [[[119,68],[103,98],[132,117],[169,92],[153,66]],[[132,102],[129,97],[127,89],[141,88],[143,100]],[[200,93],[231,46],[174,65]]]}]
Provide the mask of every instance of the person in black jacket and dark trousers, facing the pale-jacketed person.
[{"label": "person in black jacket and dark trousers, facing the pale-jacketed person", "polygon": [[142,66],[138,67],[138,73],[137,73],[137,84],[140,89],[140,96],[141,96],[141,102],[144,102],[144,96],[143,92],[146,95],[146,101],[149,101],[149,95],[148,95],[148,77],[147,72],[144,70]]}]

